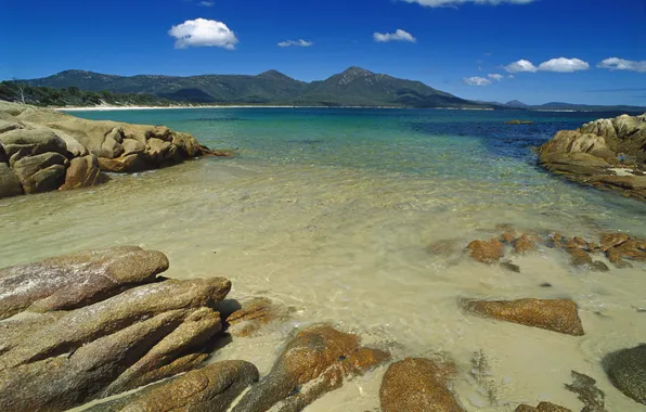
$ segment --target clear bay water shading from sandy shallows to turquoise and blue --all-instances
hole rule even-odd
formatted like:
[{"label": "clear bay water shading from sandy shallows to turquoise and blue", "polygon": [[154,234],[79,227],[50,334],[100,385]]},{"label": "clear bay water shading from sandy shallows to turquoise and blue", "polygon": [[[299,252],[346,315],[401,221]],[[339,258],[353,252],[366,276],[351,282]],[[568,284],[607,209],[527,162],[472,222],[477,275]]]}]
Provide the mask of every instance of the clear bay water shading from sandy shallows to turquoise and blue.
[{"label": "clear bay water shading from sandy shallows to turquoise and blue", "polygon": [[[593,273],[542,248],[515,257],[521,273],[428,253],[438,241],[520,230],[646,236],[646,206],[576,186],[535,167],[531,146],[559,129],[616,114],[435,110],[222,108],[75,112],[164,124],[234,159],[204,158],[74,192],[0,201],[0,266],[73,250],[134,244],[166,253],[168,275],[224,275],[232,297],[295,308],[264,337],[236,339],[215,359],[266,373],[296,325],[327,321],[396,358],[448,352],[469,411],[550,400],[580,410],[564,388],[576,370],[597,379],[609,411],[641,411],[607,381],[600,358],[646,342],[644,265]],[[505,120],[534,120],[507,126]],[[548,282],[551,288],[540,284]],[[585,336],[465,314],[461,297],[570,297]],[[482,350],[488,376],[470,360]],[[308,411],[378,408],[385,369],[353,379]]]}]

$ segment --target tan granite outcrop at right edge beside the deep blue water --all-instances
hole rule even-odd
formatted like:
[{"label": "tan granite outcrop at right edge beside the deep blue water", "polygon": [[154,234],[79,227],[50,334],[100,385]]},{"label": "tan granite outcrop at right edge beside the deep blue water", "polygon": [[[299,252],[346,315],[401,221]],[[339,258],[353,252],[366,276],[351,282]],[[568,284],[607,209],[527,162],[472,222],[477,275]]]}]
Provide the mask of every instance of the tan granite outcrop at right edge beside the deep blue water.
[{"label": "tan granite outcrop at right edge beside the deep blue water", "polygon": [[646,201],[646,114],[559,131],[541,146],[539,164],[571,181]]}]

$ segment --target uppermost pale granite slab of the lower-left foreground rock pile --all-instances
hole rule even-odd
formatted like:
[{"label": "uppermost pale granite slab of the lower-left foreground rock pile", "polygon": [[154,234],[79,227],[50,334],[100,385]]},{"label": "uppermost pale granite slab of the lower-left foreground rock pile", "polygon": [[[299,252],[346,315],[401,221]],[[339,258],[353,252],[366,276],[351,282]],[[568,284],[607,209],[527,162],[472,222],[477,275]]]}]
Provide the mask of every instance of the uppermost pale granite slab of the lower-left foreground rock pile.
[{"label": "uppermost pale granite slab of the lower-left foreground rock pile", "polygon": [[0,319],[93,304],[168,269],[160,252],[137,246],[93,249],[0,269]]}]

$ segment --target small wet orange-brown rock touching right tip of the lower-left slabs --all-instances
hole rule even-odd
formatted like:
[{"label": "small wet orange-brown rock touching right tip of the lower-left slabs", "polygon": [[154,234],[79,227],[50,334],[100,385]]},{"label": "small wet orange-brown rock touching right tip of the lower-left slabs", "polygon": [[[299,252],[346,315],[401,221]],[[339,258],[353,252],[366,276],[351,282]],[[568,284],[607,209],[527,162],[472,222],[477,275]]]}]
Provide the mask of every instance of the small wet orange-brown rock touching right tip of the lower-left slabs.
[{"label": "small wet orange-brown rock touching right tip of the lower-left slabs", "polygon": [[228,332],[233,336],[248,337],[255,335],[263,325],[285,318],[285,310],[270,299],[254,298],[227,318]]}]

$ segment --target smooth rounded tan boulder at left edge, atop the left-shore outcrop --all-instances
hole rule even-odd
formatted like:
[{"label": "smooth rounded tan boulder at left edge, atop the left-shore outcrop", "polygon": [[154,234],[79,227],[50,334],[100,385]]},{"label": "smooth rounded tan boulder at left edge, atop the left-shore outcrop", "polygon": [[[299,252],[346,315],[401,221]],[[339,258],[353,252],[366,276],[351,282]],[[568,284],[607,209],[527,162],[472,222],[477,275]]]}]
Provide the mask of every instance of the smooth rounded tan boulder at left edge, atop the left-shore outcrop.
[{"label": "smooth rounded tan boulder at left edge, atop the left-shore outcrop", "polygon": [[67,153],[65,141],[48,129],[16,129],[0,134],[0,143],[4,146],[7,155],[11,158],[18,155],[12,162],[25,156],[35,156],[43,153]]}]

